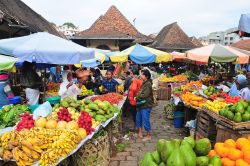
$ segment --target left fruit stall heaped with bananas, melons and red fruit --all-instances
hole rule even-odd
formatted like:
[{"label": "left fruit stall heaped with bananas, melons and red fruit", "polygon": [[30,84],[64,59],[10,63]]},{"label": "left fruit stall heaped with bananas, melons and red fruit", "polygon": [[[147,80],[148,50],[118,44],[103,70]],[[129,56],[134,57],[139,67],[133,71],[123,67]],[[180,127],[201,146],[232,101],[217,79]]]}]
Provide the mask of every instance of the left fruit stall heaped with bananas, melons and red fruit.
[{"label": "left fruit stall heaped with bananas, melons and red fruit", "polygon": [[0,157],[17,165],[63,165],[74,158],[76,165],[107,165],[113,140],[108,126],[119,117],[124,101],[109,93],[65,98],[52,110],[7,105],[0,116]]}]

